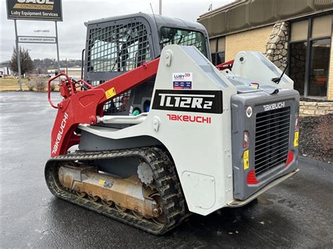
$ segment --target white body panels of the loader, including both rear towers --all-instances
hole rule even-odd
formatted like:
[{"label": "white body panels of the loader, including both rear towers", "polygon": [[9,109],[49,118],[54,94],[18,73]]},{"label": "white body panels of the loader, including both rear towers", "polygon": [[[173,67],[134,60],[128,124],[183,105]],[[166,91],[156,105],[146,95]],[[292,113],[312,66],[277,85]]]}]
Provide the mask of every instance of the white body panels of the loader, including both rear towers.
[{"label": "white body panels of the loader, including both rear towers", "polygon": [[[242,62],[240,57],[244,58]],[[275,86],[292,89],[293,82],[287,76],[282,77],[278,86],[270,81],[282,72],[268,62],[259,53],[242,52],[235,59],[233,72],[226,73],[216,69],[195,47],[166,46],[160,57],[150,112],[135,117],[104,116],[99,119],[104,123],[131,124],[122,129],[86,124],[81,124],[79,128],[83,133],[110,140],[136,138],[144,143],[149,137],[157,144],[163,144],[176,165],[188,209],[192,213],[208,215],[237,202],[235,181],[240,179],[235,180],[234,176],[234,167],[238,165],[233,160],[237,153],[233,152],[235,119],[232,118],[231,99],[239,94],[228,78],[243,78],[249,93],[259,92],[252,88],[251,81],[259,82],[259,88]],[[186,82],[185,89],[179,90],[180,79]],[[264,93],[261,90],[260,94],[256,94]],[[242,111],[243,116],[245,112],[246,109]],[[293,132],[290,130],[291,136]],[[270,178],[256,189],[256,193],[265,189],[263,187],[267,188],[272,181],[273,178]],[[253,198],[255,195],[250,194],[240,205]]]}]

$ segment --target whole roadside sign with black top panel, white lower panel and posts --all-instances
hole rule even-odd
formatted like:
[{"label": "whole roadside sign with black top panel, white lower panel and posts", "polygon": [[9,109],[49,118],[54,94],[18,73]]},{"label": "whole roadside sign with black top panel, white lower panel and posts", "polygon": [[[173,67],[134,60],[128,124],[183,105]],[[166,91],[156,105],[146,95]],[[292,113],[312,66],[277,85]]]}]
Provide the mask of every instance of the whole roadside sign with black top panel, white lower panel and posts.
[{"label": "whole roadside sign with black top panel, white lower panel and posts", "polygon": [[[55,43],[57,46],[58,72],[60,72],[58,26],[63,21],[61,0],[6,0],[7,19],[14,20],[15,46],[18,57],[18,76],[20,90],[22,90],[20,48],[18,43]],[[52,36],[18,36],[16,20],[40,20],[55,22],[55,37]]]}]

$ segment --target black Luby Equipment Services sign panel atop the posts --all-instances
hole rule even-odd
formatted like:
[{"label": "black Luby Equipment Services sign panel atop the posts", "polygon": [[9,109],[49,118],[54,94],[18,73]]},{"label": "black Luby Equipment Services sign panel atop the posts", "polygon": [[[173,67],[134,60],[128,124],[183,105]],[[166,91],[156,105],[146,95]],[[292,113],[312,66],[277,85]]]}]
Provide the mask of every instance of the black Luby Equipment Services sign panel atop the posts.
[{"label": "black Luby Equipment Services sign panel atop the posts", "polygon": [[7,0],[7,18],[62,21],[61,0]]}]

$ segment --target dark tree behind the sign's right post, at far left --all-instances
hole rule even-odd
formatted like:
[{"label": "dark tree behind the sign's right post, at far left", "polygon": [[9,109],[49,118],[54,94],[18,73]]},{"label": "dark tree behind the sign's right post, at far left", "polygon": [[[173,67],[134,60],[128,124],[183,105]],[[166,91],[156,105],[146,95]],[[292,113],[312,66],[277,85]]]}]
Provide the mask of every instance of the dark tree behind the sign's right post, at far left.
[{"label": "dark tree behind the sign's right post, at far left", "polygon": [[[32,62],[29,52],[27,49],[20,46],[20,62],[21,62],[21,74],[22,78],[25,73],[31,72],[34,69],[34,62]],[[18,53],[16,48],[13,48],[13,55],[11,56],[11,61],[9,62],[9,68],[11,71],[18,73]]]}]

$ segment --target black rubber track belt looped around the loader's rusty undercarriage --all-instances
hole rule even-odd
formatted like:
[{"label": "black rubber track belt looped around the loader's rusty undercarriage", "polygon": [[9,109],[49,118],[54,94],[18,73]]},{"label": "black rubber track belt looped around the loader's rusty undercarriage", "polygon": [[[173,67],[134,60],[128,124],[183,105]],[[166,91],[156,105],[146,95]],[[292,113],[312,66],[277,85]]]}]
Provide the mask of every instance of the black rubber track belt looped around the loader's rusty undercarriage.
[{"label": "black rubber track belt looped around the loader's rusty undercarriage", "polygon": [[[115,207],[107,207],[100,202],[81,198],[77,194],[74,194],[74,192],[64,189],[58,181],[58,168],[66,163],[73,163],[75,161],[89,163],[89,161],[101,159],[132,156],[140,157],[152,169],[157,191],[159,191],[159,195],[162,198],[162,210],[165,216],[165,223],[163,225],[156,224],[154,221],[145,218],[138,218],[131,213],[122,213]],[[174,163],[166,152],[156,147],[103,152],[74,152],[56,156],[47,161],[44,174],[48,189],[50,189],[53,195],[97,213],[112,217],[115,220],[131,224],[152,234],[164,234],[166,231],[180,224],[185,218],[185,200],[178,178],[176,177]]]}]

